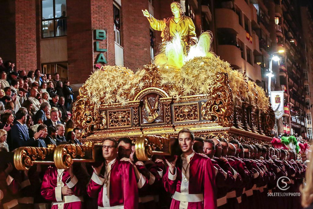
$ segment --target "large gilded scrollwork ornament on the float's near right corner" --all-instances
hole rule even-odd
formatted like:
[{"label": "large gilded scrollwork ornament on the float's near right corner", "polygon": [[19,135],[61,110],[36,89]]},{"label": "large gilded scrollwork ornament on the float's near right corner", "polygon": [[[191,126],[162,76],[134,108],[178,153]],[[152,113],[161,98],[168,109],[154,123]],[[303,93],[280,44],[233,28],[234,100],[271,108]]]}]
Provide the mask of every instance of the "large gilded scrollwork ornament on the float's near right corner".
[{"label": "large gilded scrollwork ornament on the float's near right corner", "polygon": [[210,98],[201,102],[202,120],[216,120],[223,127],[233,126],[233,95],[228,74],[216,73],[214,84],[208,88]]}]

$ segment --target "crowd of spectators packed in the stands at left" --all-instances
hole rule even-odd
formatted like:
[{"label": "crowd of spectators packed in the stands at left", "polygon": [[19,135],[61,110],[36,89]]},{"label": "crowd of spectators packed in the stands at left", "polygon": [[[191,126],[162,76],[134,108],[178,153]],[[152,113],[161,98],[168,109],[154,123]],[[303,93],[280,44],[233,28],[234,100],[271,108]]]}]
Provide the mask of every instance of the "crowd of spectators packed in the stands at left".
[{"label": "crowd of spectators packed in the stands at left", "polygon": [[81,144],[81,130],[71,120],[72,103],[73,89],[59,73],[16,71],[15,64],[0,57],[0,147]]}]

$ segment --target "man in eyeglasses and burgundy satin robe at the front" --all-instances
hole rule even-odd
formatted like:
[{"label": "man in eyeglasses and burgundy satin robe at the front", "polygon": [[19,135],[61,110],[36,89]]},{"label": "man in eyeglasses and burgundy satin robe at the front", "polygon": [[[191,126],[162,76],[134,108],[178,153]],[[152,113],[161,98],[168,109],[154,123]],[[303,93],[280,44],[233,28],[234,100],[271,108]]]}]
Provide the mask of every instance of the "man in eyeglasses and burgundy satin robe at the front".
[{"label": "man in eyeglasses and burgundy satin robe at the front", "polygon": [[102,144],[104,162],[93,167],[87,187],[90,197],[98,197],[100,209],[138,208],[138,188],[131,163],[117,159],[117,142],[106,138]]}]

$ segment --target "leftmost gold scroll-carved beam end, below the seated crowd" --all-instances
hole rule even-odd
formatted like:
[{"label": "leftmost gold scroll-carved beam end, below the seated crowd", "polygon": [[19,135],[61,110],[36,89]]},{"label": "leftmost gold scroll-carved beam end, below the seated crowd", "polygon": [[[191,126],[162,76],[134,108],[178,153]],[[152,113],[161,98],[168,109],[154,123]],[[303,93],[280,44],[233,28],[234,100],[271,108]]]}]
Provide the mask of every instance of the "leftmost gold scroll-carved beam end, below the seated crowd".
[{"label": "leftmost gold scroll-carved beam end, below the seated crowd", "polygon": [[41,161],[54,152],[55,147],[20,147],[14,153],[14,165],[17,170],[28,170],[33,161]]}]

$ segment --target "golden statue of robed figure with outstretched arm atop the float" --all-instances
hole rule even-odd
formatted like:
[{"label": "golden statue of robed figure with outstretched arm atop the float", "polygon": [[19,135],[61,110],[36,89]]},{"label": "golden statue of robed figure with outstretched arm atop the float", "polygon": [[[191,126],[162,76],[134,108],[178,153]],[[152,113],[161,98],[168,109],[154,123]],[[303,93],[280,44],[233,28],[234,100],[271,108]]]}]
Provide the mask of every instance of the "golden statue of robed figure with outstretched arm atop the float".
[{"label": "golden statue of robed figure with outstretched arm atop the float", "polygon": [[142,10],[143,15],[148,18],[153,29],[162,31],[162,43],[170,41],[179,33],[186,45],[194,45],[198,42],[195,25],[190,17],[185,16],[182,5],[178,2],[171,3],[173,17],[157,20],[147,10]]}]

